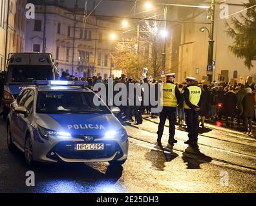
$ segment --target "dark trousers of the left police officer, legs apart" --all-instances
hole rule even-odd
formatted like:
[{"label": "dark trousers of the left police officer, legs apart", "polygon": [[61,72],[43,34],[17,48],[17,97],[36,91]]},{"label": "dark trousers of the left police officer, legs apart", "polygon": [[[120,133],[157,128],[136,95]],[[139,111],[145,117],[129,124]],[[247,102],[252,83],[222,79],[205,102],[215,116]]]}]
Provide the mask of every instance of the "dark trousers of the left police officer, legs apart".
[{"label": "dark trousers of the left police officer, legs apart", "polygon": [[164,132],[164,124],[166,118],[169,119],[169,138],[174,138],[175,136],[175,122],[176,122],[176,108],[164,107],[160,113],[160,123],[158,126],[157,135],[158,138],[162,138]]}]

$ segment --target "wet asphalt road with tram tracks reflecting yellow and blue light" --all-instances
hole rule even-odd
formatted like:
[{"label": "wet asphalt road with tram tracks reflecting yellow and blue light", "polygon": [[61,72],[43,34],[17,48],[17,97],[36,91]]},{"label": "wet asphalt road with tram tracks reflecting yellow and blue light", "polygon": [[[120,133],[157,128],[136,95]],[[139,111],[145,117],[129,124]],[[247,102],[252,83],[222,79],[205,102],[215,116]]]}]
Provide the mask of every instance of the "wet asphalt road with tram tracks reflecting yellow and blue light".
[{"label": "wet asphalt road with tram tracks reflecting yellow and blue light", "polygon": [[[192,148],[184,144],[186,131],[177,129],[178,144],[161,149],[155,144],[153,121],[126,128],[131,137],[123,167],[103,162],[31,168],[23,153],[8,151],[0,119],[0,192],[256,192],[253,137],[211,128],[200,136],[199,147]],[[25,185],[27,171],[34,171],[35,187]]]}]

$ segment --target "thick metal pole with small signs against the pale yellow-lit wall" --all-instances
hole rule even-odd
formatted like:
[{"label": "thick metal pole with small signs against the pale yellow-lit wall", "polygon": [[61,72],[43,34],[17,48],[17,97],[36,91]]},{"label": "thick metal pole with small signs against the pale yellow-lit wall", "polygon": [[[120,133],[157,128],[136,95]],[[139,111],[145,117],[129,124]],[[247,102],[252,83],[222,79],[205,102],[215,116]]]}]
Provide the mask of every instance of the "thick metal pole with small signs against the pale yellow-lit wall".
[{"label": "thick metal pole with small signs against the pale yellow-lit wall", "polygon": [[[213,46],[214,46],[214,20],[215,20],[215,0],[211,0],[211,30],[209,34],[209,48],[208,48],[208,65],[213,65]],[[213,72],[208,73],[209,82],[213,80]]]}]

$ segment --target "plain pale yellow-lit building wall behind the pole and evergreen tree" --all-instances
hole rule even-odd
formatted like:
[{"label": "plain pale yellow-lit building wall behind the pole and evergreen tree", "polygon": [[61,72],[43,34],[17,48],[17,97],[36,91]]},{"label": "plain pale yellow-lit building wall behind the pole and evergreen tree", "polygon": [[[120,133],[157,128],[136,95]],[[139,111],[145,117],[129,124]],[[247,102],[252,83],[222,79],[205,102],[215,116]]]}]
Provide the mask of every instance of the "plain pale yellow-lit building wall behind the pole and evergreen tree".
[{"label": "plain pale yellow-lit building wall behind the pole and evergreen tree", "polygon": [[[243,2],[240,0],[226,1],[225,3],[228,4],[229,14],[244,9]],[[226,22],[230,23],[230,17],[222,19],[220,16],[222,10],[223,7],[220,4],[215,5],[213,55],[215,66],[213,67],[213,80],[244,82],[246,76],[256,76],[256,62],[253,61],[254,68],[249,71],[244,66],[243,60],[235,57],[229,50],[233,39],[228,37],[226,33]],[[176,72],[177,82],[183,82],[186,76],[197,77],[198,80],[207,79],[209,39],[207,30],[200,32],[200,27],[205,26],[210,29],[209,19],[207,19],[208,10],[193,8],[181,12],[176,9],[173,14],[176,14],[176,16],[173,16],[174,19],[189,21],[190,23],[172,24],[170,26],[172,31],[169,39],[171,50],[167,53],[171,57],[168,62],[169,70]],[[234,17],[239,19],[239,15],[234,15]],[[221,77],[224,77],[224,79]]]}]

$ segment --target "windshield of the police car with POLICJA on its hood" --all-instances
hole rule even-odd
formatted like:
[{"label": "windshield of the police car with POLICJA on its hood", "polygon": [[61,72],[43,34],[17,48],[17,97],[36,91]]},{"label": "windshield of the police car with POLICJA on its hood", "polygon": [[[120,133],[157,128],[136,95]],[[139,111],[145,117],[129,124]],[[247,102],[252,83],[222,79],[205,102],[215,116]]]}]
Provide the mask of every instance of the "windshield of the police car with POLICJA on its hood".
[{"label": "windshield of the police car with POLICJA on its hood", "polygon": [[[40,91],[37,113],[111,113],[105,104],[96,106],[94,93],[82,91]],[[101,101],[102,102],[102,101]],[[103,102],[102,102],[103,103]]]}]

